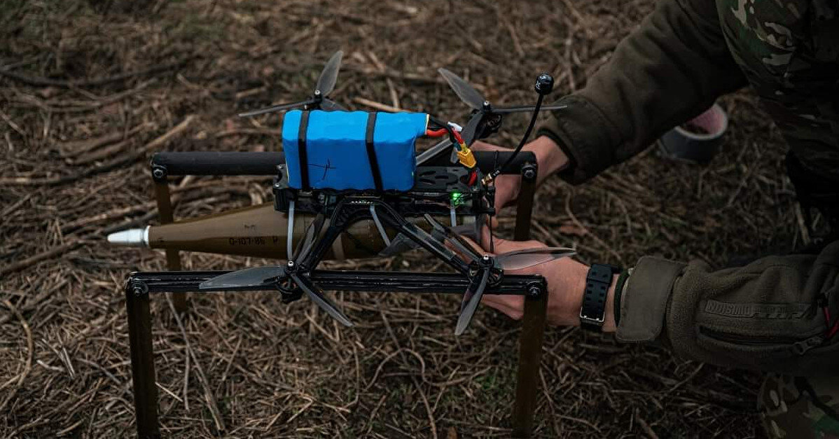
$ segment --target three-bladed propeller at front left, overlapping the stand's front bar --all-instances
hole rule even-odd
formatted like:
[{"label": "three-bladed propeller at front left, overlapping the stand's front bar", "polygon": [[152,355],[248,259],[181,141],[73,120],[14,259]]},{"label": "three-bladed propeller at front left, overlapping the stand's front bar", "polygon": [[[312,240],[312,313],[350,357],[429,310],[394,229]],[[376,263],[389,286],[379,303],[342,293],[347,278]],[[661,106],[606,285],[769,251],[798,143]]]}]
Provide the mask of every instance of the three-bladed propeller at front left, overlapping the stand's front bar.
[{"label": "three-bladed propeller at front left, overlapping the stand's front bar", "polygon": [[[334,83],[333,83],[334,85]],[[325,217],[322,213],[315,217],[315,221],[306,228],[305,238],[298,244],[292,260],[282,265],[266,265],[250,269],[240,269],[232,273],[221,274],[198,285],[199,290],[232,290],[242,288],[289,290],[292,285],[314,301],[317,306],[332,316],[342,325],[352,327],[352,321],[341,312],[335,302],[324,295],[309,277],[308,269],[301,267],[297,261],[304,261],[315,246],[315,238],[320,236]]]}]

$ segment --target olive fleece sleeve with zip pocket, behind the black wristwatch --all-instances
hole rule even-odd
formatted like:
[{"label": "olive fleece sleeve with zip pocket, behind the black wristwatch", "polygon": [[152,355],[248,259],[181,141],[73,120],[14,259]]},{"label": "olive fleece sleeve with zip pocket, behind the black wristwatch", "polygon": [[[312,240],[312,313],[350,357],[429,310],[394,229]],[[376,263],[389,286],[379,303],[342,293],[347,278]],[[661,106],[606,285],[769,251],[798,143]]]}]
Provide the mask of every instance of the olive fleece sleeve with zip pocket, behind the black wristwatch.
[{"label": "olive fleece sleeve with zip pocket, behind the black wristwatch", "polygon": [[717,271],[644,257],[620,316],[621,342],[664,342],[681,357],[735,368],[839,375],[839,241]]}]

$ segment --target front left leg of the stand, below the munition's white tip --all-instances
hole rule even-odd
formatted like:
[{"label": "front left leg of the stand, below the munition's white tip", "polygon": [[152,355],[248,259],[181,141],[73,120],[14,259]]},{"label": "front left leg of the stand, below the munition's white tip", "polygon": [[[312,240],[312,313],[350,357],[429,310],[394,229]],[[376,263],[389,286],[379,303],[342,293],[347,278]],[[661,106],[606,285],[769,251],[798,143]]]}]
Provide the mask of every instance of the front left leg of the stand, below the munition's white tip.
[{"label": "front left leg of the stand, below the munition's white tip", "polygon": [[144,285],[128,285],[125,289],[128,311],[128,342],[131,345],[131,376],[134,388],[134,410],[140,439],[158,438],[157,387],[154,381],[154,348],[152,321],[149,314],[149,290]]}]

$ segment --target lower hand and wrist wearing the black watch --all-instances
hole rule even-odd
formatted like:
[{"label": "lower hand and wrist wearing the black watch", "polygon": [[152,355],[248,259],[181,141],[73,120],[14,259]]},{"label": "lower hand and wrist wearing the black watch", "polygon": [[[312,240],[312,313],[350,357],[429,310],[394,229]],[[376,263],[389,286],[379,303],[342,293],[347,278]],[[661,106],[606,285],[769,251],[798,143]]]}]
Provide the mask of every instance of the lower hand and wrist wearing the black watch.
[{"label": "lower hand and wrist wearing the black watch", "polygon": [[[486,227],[482,234],[481,241],[488,247],[490,237]],[[477,244],[474,245],[477,248]],[[547,246],[539,241],[508,241],[494,238],[494,247],[498,253],[507,253],[525,248]],[[483,252],[488,253],[486,248],[483,249]],[[580,308],[582,306],[583,290],[586,285],[588,265],[571,258],[560,258],[545,264],[534,265],[526,269],[505,271],[504,273],[539,274],[543,276],[548,283],[548,323],[553,326],[580,325]],[[612,286],[609,289],[606,301],[606,321],[603,324],[603,332],[615,331],[614,286],[615,280],[612,280]],[[498,311],[502,311],[515,320],[524,316],[523,295],[485,294],[482,297],[482,302]]]}]

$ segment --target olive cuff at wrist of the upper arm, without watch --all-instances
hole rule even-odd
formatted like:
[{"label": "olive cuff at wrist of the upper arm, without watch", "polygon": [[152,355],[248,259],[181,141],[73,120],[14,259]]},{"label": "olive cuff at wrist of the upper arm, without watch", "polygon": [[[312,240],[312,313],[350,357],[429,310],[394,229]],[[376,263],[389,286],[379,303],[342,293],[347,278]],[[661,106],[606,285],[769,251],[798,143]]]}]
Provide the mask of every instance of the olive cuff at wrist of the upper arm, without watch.
[{"label": "olive cuff at wrist of the upper arm, without watch", "polygon": [[560,145],[571,163],[559,175],[578,185],[614,163],[618,139],[612,125],[586,98],[571,95],[558,103],[567,107],[556,110],[554,120],[539,128],[536,136],[547,136]]}]

